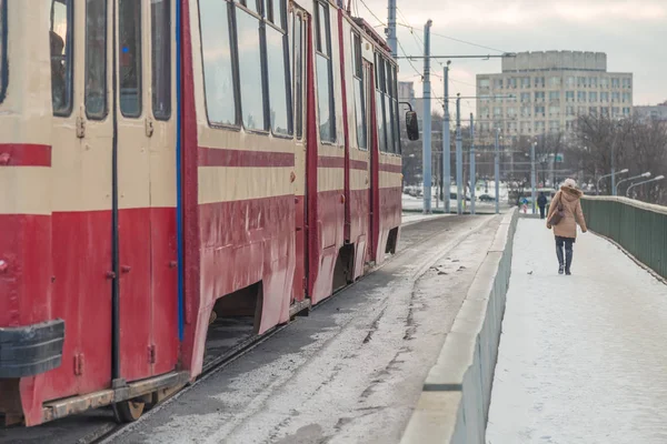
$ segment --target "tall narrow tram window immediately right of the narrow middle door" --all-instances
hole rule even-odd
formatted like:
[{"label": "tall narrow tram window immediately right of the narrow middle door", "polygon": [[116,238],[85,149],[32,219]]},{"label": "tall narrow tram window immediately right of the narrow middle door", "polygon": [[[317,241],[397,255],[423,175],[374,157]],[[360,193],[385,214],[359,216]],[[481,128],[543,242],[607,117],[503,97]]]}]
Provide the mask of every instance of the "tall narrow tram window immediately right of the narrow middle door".
[{"label": "tall narrow tram window immediately right of the narrow middle door", "polygon": [[319,47],[317,51],[317,101],[320,140],[336,142],[336,113],[334,103],[334,73],[331,70],[331,29],[329,24],[328,4],[316,2],[318,11],[317,36]]}]

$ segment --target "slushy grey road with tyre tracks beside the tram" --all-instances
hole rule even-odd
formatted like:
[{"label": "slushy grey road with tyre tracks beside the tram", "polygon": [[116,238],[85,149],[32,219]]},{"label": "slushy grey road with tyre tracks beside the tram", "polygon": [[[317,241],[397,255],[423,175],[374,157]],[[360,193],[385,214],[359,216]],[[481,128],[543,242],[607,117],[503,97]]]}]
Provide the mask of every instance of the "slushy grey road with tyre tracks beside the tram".
[{"label": "slushy grey road with tyre tracks beside the tram", "polygon": [[385,266],[110,442],[398,442],[499,222],[407,228]]}]

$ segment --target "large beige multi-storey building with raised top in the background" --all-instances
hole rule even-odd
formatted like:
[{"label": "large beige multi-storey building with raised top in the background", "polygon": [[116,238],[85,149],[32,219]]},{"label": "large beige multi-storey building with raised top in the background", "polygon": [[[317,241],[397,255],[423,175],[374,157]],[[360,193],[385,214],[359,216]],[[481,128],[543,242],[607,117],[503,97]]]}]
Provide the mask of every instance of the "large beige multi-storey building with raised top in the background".
[{"label": "large beige multi-storey building with raised top in the background", "polygon": [[477,97],[482,134],[568,132],[581,114],[629,117],[633,74],[607,72],[604,52],[520,52],[501,73],[477,75]]}]

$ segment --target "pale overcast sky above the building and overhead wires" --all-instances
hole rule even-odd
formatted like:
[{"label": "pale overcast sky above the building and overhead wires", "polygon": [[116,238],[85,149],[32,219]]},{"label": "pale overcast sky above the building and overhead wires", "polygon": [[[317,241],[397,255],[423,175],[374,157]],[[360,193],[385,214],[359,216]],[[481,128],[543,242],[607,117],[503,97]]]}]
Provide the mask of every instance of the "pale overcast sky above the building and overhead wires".
[{"label": "pale overcast sky above the building and overhead wires", "polygon": [[[364,0],[387,22],[387,1]],[[431,54],[498,54],[498,51],[460,43],[465,40],[507,52],[599,51],[607,53],[608,71],[634,73],[634,103],[656,104],[667,100],[667,0],[397,0],[398,39],[408,54],[424,54],[424,24],[432,20]],[[365,8],[352,1],[352,13],[364,17],[384,34],[384,27]],[[410,29],[415,28],[415,34]],[[441,37],[441,36],[446,37]],[[399,47],[399,56],[404,56]],[[441,60],[445,63],[445,60]],[[424,61],[412,64],[420,73]],[[432,61],[432,90],[442,95],[442,67]],[[452,60],[450,93],[475,95],[476,74],[500,72],[500,60]],[[406,60],[399,80],[415,80],[416,95],[422,83]],[[475,101],[464,103],[461,113],[475,112]]]}]

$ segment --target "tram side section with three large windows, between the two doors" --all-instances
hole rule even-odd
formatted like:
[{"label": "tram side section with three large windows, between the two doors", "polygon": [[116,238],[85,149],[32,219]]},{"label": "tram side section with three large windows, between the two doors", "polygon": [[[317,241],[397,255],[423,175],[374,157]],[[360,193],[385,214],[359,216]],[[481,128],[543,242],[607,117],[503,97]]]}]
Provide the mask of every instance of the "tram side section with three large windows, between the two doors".
[{"label": "tram side section with three large windows, between the two doors", "polygon": [[[197,171],[197,195],[186,194],[197,201],[196,214],[186,210],[186,242],[199,244],[199,275],[186,279],[198,279],[199,292],[187,291],[183,352],[196,375],[213,306],[219,315],[255,316],[258,334],[289,319],[296,265],[295,143],[288,58],[281,56],[286,4],[281,2],[280,18],[276,12],[265,19],[239,3],[189,6],[185,68],[192,72],[193,100],[185,99],[185,112],[192,113],[197,133],[186,135],[185,155],[190,158],[183,173],[193,176]],[[267,27],[261,43],[260,21]],[[236,28],[230,33],[231,22]],[[266,59],[262,44],[268,46]],[[187,118],[186,124],[190,122]]]}]

